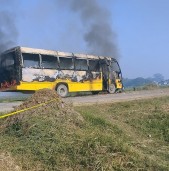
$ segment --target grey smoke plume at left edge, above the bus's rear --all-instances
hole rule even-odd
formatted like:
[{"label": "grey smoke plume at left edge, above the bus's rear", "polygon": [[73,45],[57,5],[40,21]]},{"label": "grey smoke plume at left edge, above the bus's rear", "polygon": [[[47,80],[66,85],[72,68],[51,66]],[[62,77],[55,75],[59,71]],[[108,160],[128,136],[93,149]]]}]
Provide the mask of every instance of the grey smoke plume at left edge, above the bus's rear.
[{"label": "grey smoke plume at left edge, above the bus's rear", "polygon": [[18,32],[14,10],[16,0],[0,0],[0,53],[16,44]]}]

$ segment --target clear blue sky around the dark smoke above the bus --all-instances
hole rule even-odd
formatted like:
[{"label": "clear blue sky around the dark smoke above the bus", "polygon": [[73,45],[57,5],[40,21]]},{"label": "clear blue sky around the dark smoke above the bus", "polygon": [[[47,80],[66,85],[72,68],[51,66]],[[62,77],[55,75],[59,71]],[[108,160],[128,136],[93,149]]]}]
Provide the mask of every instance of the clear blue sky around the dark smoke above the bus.
[{"label": "clear blue sky around the dark smoke above the bus", "polygon": [[[8,1],[15,3],[1,3],[0,10],[9,7],[14,15],[18,31],[15,45],[89,52],[83,39],[85,23],[66,3],[61,0]],[[123,77],[148,78],[161,73],[168,79],[169,0],[97,1],[110,13]]]}]

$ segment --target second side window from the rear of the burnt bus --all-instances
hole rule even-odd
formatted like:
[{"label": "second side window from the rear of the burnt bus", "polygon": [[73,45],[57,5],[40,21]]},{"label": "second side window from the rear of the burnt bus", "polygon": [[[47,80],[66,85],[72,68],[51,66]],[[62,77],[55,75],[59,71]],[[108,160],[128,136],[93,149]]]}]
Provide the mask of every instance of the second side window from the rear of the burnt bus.
[{"label": "second side window from the rear of the burnt bus", "polygon": [[41,55],[42,56],[42,67],[46,69],[57,69],[58,60],[55,56]]}]

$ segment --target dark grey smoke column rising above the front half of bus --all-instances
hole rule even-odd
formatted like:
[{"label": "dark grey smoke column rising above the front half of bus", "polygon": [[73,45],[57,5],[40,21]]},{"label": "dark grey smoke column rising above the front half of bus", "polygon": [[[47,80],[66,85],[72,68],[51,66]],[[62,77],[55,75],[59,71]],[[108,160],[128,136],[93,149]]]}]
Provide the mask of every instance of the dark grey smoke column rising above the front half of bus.
[{"label": "dark grey smoke column rising above the front half of bus", "polygon": [[[111,28],[111,14],[97,0],[60,0],[79,14],[86,32],[83,39],[90,53],[118,58],[116,34]],[[77,27],[77,25],[75,26]]]}]

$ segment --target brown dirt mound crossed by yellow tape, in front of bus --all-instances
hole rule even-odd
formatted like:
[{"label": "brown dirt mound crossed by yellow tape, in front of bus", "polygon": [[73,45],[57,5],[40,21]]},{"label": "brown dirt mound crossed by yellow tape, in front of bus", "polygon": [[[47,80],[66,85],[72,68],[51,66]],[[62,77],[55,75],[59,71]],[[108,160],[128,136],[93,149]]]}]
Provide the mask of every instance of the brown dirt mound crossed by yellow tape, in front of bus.
[{"label": "brown dirt mound crossed by yellow tape, in front of bus", "polygon": [[30,117],[30,115],[52,115],[52,117],[54,117],[57,121],[64,120],[75,123],[83,120],[81,115],[74,111],[71,103],[64,102],[54,90],[50,89],[36,91],[36,93],[25,102],[19,106],[16,106],[14,111],[20,111],[31,107],[35,108],[23,111],[20,114],[7,118],[6,124],[8,125],[21,120],[26,120]]}]

